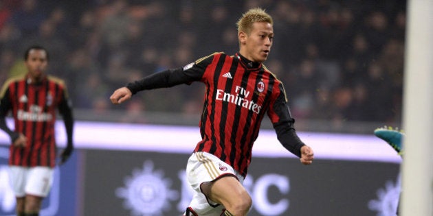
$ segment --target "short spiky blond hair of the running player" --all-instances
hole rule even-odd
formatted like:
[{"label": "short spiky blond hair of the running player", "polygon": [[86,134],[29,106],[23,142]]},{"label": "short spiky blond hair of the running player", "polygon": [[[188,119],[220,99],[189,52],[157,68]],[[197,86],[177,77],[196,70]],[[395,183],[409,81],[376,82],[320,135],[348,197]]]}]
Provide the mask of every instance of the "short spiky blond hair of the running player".
[{"label": "short spiky blond hair of the running player", "polygon": [[257,22],[265,22],[274,24],[271,15],[267,14],[262,8],[249,9],[245,14],[242,14],[241,19],[236,23],[239,32],[245,32],[249,35],[252,30],[252,24]]}]

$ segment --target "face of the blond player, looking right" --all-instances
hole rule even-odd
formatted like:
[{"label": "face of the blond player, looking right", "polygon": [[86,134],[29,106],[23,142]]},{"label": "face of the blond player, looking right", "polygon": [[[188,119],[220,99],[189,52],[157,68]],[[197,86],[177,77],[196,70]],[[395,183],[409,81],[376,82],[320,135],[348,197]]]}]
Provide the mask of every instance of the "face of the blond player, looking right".
[{"label": "face of the blond player, looking right", "polygon": [[274,29],[271,23],[253,23],[252,30],[245,38],[245,58],[254,62],[264,62],[269,55],[274,38]]}]

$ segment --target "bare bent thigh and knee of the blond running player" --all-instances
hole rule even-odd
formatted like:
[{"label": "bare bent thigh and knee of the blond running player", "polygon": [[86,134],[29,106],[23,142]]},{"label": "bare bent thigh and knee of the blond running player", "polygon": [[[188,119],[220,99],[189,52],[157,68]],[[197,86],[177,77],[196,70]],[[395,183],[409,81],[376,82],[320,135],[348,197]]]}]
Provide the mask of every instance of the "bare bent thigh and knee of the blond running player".
[{"label": "bare bent thigh and knee of the blond running player", "polygon": [[234,176],[225,176],[201,185],[202,192],[212,201],[228,205],[239,200],[249,200],[249,194]]}]

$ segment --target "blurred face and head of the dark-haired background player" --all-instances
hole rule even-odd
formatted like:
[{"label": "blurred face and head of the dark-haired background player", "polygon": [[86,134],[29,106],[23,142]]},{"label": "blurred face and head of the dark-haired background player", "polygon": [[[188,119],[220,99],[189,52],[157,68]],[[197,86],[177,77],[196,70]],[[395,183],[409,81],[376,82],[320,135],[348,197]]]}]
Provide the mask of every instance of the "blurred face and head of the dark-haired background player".
[{"label": "blurred face and head of the dark-haired background player", "polygon": [[38,79],[47,70],[47,53],[43,49],[31,49],[25,66],[34,79]]}]

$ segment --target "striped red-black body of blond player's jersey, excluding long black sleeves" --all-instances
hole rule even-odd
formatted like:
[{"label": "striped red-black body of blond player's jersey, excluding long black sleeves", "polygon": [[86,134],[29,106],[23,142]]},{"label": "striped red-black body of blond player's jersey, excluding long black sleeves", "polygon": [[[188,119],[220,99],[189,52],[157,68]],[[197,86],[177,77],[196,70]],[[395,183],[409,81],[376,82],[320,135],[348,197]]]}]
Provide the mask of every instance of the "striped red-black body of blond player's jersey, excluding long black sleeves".
[{"label": "striped red-black body of blond player's jersey, excluding long black sleeves", "polygon": [[263,64],[254,67],[238,55],[223,53],[207,61],[196,62],[208,66],[201,78],[206,84],[200,124],[203,140],[195,152],[214,154],[245,176],[263,116],[267,113],[272,123],[280,121],[273,105],[285,106],[285,92]]}]

